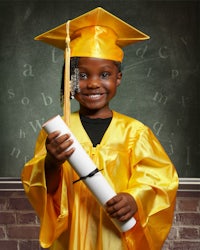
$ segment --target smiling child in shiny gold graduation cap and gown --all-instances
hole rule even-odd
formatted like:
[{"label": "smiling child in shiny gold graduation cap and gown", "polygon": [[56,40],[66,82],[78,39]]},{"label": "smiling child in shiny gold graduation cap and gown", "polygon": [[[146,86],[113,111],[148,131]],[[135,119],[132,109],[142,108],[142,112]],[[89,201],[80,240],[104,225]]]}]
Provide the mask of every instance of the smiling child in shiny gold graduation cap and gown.
[{"label": "smiling child in shiny gold graduation cap and gown", "polygon": [[[70,134],[42,130],[22,172],[40,243],[55,250],[161,249],[173,220],[176,170],[148,127],[109,108],[122,79],[121,48],[148,36],[102,8],[68,25],[71,95],[80,104],[70,129],[117,195],[104,210],[81,180],[73,183],[79,176],[67,161],[75,150]],[[66,36],[61,25],[37,39],[65,49]],[[133,216],[136,225],[124,233],[110,220]]]}]

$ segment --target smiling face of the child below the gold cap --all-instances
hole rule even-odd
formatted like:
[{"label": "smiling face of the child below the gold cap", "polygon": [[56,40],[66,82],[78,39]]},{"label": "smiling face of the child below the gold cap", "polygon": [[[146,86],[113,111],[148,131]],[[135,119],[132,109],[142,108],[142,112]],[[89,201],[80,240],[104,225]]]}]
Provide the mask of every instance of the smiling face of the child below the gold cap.
[{"label": "smiling face of the child below the gold cap", "polygon": [[111,60],[82,57],[78,68],[80,92],[75,98],[80,108],[86,112],[107,112],[122,78],[116,64]]}]

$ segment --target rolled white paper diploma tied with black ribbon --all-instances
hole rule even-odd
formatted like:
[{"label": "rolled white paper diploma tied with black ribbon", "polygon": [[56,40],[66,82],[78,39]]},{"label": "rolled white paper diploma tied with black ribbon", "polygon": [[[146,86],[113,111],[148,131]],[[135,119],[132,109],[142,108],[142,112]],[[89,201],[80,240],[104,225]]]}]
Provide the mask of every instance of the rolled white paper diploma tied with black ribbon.
[{"label": "rolled white paper diploma tied with black ribbon", "polygon": [[[74,137],[74,135],[67,127],[60,115],[57,115],[52,119],[48,120],[46,123],[43,124],[42,127],[48,134],[56,130],[60,131],[59,136],[63,134],[70,134],[71,138],[73,139],[72,147],[75,148],[75,151],[68,158],[68,161],[73,167],[73,169],[76,171],[76,173],[79,175],[79,177],[86,176],[96,169],[96,165],[85,152],[85,150],[82,148],[77,139]],[[89,188],[89,190],[93,193],[93,195],[103,207],[105,206],[108,200],[110,200],[116,195],[115,191],[111,188],[110,184],[101,174],[101,172],[97,172],[92,177],[87,177],[86,179],[83,179],[83,182],[86,184],[86,186]],[[115,219],[111,220],[121,232],[128,231],[136,223],[134,218],[131,218],[126,222],[120,222]]]}]

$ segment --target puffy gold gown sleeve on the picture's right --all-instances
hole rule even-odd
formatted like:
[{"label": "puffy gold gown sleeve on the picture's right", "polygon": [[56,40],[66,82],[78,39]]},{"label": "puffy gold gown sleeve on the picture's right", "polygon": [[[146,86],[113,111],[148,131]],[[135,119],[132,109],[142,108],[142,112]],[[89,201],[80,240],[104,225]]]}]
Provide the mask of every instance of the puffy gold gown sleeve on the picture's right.
[{"label": "puffy gold gown sleeve on the picture's right", "polygon": [[[178,188],[177,172],[149,128],[138,133],[131,152],[128,189],[136,200],[136,226],[125,233],[128,249],[160,250],[170,231]],[[133,240],[135,239],[135,240]]]}]

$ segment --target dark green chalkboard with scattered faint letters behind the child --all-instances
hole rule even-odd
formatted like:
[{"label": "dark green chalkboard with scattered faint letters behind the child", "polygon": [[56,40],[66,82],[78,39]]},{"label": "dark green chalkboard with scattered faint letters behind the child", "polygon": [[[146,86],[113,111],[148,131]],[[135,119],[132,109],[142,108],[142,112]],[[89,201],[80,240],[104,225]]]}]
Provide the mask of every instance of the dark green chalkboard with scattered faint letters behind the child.
[{"label": "dark green chalkboard with scattered faint letters behind the child", "polygon": [[199,1],[133,0],[0,1],[0,176],[20,177],[42,123],[62,114],[63,52],[33,38],[97,6],[151,37],[125,49],[112,108],[153,130],[180,177],[199,178]]}]

